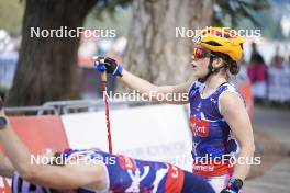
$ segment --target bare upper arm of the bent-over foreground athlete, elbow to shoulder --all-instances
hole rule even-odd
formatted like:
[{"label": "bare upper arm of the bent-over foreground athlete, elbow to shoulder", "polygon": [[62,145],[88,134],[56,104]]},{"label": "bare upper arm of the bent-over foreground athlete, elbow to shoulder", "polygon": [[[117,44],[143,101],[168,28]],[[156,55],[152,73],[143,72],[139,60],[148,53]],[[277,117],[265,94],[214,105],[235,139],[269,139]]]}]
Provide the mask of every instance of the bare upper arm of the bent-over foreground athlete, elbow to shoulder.
[{"label": "bare upper arm of the bent-over foreground athlete, elbow to shoulder", "polygon": [[107,177],[103,167],[100,164],[86,164],[85,162],[64,167],[40,164],[26,175],[24,174],[23,179],[35,184],[59,190],[78,188],[104,190],[107,188]]}]

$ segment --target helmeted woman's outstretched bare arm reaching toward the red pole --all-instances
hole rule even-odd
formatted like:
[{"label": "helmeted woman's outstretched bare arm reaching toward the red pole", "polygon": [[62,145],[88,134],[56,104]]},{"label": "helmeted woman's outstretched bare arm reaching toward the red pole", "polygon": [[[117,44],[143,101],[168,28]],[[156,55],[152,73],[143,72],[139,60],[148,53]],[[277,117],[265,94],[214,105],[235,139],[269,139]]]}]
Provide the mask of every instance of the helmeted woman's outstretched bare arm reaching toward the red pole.
[{"label": "helmeted woman's outstretched bare arm reaching toward the red pole", "polygon": [[123,76],[120,80],[132,90],[144,94],[146,99],[170,104],[187,104],[188,90],[192,84],[192,80],[189,80],[177,86],[155,86],[126,70],[123,70]]}]

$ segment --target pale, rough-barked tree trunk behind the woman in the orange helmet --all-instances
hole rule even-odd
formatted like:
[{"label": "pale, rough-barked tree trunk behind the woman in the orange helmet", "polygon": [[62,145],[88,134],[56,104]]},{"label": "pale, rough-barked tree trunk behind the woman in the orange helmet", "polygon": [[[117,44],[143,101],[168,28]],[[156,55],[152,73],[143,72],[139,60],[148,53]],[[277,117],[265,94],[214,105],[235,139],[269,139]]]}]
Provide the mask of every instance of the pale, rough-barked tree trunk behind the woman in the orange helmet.
[{"label": "pale, rough-barked tree trunk behind the woman in the orange helmet", "polygon": [[[191,69],[192,31],[210,24],[212,10],[212,0],[133,1],[125,68],[157,84],[187,80]],[[177,27],[188,34],[177,35]]]}]

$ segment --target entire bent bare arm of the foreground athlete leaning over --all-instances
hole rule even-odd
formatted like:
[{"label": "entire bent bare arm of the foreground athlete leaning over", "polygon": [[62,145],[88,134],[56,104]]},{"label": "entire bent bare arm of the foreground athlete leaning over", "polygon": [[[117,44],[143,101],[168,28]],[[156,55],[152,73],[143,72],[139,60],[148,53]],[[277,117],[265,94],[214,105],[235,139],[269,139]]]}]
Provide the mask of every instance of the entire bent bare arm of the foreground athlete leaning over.
[{"label": "entire bent bare arm of the foreground athlete leaning over", "polygon": [[[3,116],[0,112],[0,116]],[[20,175],[32,183],[53,189],[105,188],[105,172],[100,164],[66,164],[64,167],[36,164],[11,125],[0,130],[0,140]]]}]

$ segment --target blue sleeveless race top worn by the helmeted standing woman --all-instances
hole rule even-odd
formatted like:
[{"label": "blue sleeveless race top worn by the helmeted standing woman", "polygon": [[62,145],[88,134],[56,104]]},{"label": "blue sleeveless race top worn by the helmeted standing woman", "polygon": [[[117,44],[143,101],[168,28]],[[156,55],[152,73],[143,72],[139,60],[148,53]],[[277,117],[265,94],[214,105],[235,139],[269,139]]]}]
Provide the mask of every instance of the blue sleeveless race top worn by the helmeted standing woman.
[{"label": "blue sleeveless race top worn by the helmeted standing woman", "polygon": [[225,82],[208,98],[202,98],[203,83],[196,81],[189,90],[190,128],[192,132],[192,157],[227,159],[238,152],[238,145],[228,124],[220,112],[220,98],[224,92],[237,93],[237,89]]}]

